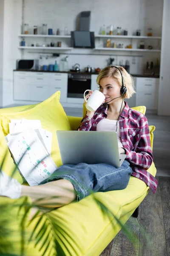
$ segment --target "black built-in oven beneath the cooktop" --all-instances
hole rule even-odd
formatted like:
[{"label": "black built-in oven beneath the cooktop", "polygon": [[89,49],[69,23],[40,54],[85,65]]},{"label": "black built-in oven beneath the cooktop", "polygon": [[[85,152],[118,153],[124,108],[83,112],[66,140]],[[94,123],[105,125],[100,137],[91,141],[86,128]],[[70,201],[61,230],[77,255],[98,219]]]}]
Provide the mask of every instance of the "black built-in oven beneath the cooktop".
[{"label": "black built-in oven beneath the cooktop", "polygon": [[68,74],[68,98],[83,99],[84,92],[87,89],[91,89],[91,75]]}]

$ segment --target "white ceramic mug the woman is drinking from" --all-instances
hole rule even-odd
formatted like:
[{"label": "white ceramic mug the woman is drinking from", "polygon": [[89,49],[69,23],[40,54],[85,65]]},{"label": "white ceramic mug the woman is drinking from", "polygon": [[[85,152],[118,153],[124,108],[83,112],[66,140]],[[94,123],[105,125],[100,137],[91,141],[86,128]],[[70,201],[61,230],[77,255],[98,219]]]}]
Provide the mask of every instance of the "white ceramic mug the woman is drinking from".
[{"label": "white ceramic mug the woman is drinking from", "polygon": [[[90,90],[85,90],[84,92],[84,99],[85,99],[85,93]],[[87,99],[85,99],[86,105],[85,107],[89,111],[96,111],[97,108],[104,102],[105,95],[101,93],[99,90],[94,90],[94,92],[91,94],[91,96]]]}]

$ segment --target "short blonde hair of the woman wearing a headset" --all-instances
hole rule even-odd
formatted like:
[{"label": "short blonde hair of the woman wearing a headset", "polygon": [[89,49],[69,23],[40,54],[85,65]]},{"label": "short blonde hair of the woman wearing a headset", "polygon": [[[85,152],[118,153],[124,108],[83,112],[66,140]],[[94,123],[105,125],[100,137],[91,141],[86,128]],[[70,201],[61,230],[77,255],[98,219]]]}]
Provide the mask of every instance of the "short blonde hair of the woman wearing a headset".
[{"label": "short blonde hair of the woman wearing a headset", "polygon": [[[136,93],[133,78],[132,76],[130,76],[129,73],[127,73],[127,71],[123,67],[119,67],[119,66],[116,66],[116,67],[118,67],[119,70],[121,71],[123,76],[124,86],[127,88],[127,91],[123,95],[123,97],[126,99],[129,99],[134,93]],[[97,76],[97,79],[96,79],[97,84],[100,83],[100,80],[102,78],[111,77],[116,80],[116,82],[119,84],[120,87],[122,87],[122,76],[120,71],[116,67],[108,66],[102,69],[99,72],[99,75]]]}]

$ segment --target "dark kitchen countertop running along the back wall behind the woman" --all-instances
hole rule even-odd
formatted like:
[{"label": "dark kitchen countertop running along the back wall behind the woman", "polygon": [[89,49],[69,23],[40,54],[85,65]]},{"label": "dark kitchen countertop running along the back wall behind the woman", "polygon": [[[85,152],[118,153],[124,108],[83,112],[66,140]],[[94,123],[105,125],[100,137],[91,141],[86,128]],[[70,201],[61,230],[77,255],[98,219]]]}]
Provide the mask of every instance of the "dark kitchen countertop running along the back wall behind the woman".
[{"label": "dark kitchen countertop running along the back wall behind the woman", "polygon": [[[82,75],[98,75],[98,72],[93,72],[93,73],[88,73],[88,72],[84,72],[84,71],[80,71],[80,72],[71,72],[71,71],[43,71],[43,70],[13,70],[13,71],[25,71],[25,72],[44,72],[44,73],[69,73],[69,74],[82,74]],[[159,78],[159,75],[147,75],[147,74],[130,74],[131,76],[134,77],[149,77],[149,78]]]}]

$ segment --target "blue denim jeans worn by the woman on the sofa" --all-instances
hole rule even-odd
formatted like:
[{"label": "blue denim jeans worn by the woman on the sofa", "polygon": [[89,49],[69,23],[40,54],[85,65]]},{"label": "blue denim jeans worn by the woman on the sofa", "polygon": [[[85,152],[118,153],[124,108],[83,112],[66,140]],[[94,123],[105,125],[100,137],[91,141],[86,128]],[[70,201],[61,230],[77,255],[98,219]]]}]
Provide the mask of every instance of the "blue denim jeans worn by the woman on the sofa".
[{"label": "blue denim jeans worn by the woman on the sofa", "polygon": [[46,180],[44,184],[54,180],[69,180],[77,192],[77,201],[90,195],[91,192],[106,192],[125,189],[129,182],[132,169],[130,163],[123,161],[119,168],[105,163],[62,165]]}]

